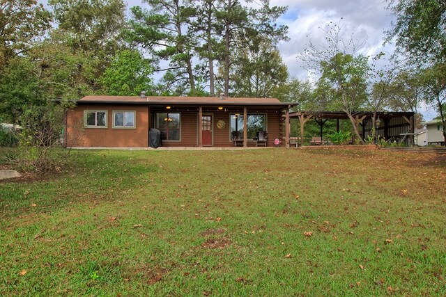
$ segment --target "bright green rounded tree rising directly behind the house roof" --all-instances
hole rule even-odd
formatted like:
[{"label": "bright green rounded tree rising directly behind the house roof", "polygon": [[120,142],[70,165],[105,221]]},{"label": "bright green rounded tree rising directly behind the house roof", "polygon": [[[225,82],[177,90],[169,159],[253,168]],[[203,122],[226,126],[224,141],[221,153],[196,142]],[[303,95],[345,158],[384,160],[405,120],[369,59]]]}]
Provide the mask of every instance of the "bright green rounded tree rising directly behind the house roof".
[{"label": "bright green rounded tree rising directly behind the house roof", "polygon": [[152,73],[150,61],[139,51],[126,49],[116,53],[100,81],[106,95],[139,95],[153,89]]}]

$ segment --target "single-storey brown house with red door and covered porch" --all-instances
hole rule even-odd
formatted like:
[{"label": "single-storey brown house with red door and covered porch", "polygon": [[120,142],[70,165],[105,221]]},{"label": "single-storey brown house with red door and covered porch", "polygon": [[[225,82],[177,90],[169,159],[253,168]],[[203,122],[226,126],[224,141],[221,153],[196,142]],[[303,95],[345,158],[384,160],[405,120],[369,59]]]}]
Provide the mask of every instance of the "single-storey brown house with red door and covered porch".
[{"label": "single-storey brown house with red door and covered porch", "polygon": [[[164,147],[231,147],[233,131],[243,147],[256,146],[259,131],[286,140],[284,125],[294,104],[275,98],[86,96],[66,113],[68,147],[148,147],[158,129]],[[287,145],[286,141],[283,141]]]}]

